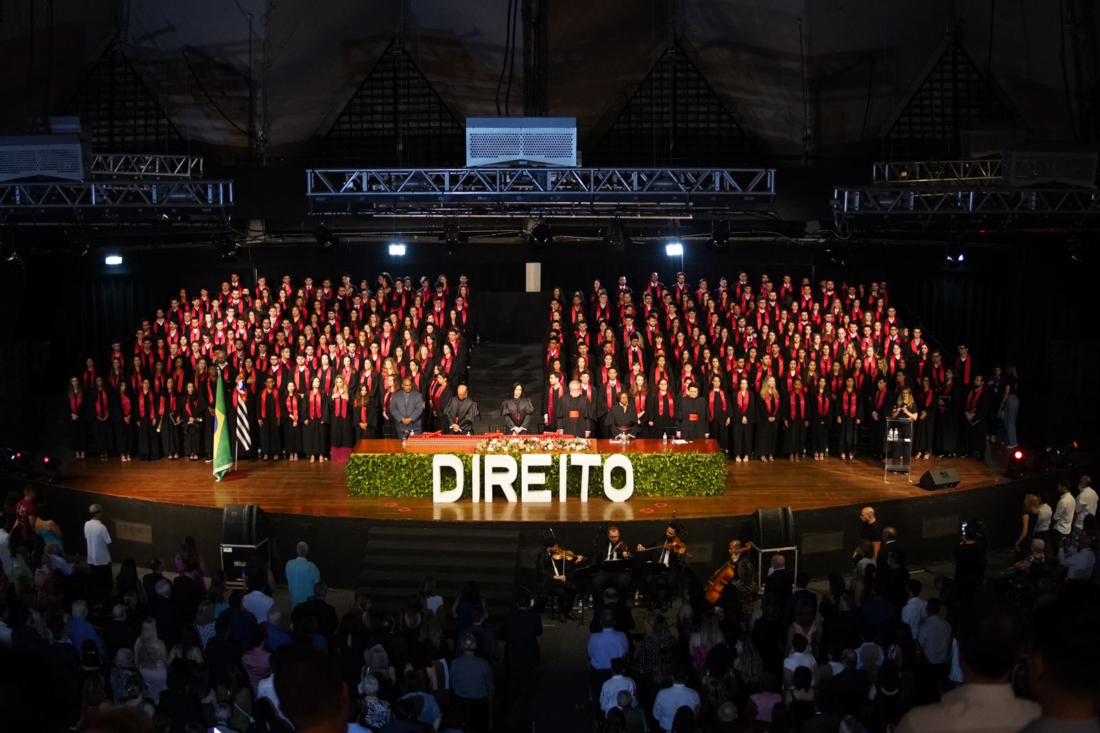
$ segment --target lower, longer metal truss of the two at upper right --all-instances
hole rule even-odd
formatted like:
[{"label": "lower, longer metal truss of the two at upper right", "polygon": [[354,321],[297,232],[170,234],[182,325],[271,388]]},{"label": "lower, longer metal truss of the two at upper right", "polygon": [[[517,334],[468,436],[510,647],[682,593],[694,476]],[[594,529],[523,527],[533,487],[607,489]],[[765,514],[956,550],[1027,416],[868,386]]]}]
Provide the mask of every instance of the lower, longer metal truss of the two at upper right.
[{"label": "lower, longer metal truss of the two at upper right", "polygon": [[1060,219],[1078,225],[1100,216],[1100,194],[1091,189],[861,186],[836,188],[837,223],[861,217],[908,218],[931,223],[960,217]]}]

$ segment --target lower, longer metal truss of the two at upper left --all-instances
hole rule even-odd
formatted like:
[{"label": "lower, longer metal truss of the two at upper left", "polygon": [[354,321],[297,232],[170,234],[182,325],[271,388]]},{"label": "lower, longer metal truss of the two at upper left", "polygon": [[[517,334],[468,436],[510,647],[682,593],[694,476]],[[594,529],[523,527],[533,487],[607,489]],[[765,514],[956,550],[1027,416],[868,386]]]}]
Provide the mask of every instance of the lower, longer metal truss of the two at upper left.
[{"label": "lower, longer metal truss of the two at upper left", "polygon": [[224,209],[232,180],[92,180],[0,184],[0,211],[36,209]]}]

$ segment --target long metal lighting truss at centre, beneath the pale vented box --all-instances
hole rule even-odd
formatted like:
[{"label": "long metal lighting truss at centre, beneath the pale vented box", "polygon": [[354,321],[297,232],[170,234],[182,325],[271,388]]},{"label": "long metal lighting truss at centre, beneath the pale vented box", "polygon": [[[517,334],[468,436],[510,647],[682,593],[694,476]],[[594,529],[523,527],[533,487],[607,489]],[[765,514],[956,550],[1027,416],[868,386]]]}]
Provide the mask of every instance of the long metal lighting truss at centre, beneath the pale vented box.
[{"label": "long metal lighting truss at centre, beneath the pale vented box", "polygon": [[758,211],[774,168],[339,168],[306,172],[314,214],[571,216]]}]

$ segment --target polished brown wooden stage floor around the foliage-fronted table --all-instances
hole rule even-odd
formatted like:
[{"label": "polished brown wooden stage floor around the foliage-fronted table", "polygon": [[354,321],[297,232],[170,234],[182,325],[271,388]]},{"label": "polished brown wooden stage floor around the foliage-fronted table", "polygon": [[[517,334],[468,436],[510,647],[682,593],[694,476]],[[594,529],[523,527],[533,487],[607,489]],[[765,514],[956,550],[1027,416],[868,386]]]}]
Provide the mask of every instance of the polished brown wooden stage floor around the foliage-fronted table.
[{"label": "polished brown wooden stage floor around the foliage-fronted table", "polygon": [[[986,463],[970,459],[920,461],[913,481],[928,469],[954,468],[961,483],[954,491],[1008,483],[1003,449],[996,447]],[[824,462],[803,459],[792,463],[727,463],[723,496],[668,497],[636,496],[616,504],[603,497],[582,504],[571,497],[565,503],[509,504],[494,501],[474,504],[433,504],[431,500],[363,499],[348,496],[342,463],[241,463],[242,477],[216,483],[210,463],[160,460],[150,463],[118,459],[73,462],[62,473],[59,484],[85,491],[152,502],[221,507],[224,504],[260,504],[270,513],[312,516],[411,519],[419,522],[629,522],[659,518],[673,508],[681,518],[737,516],[760,507],[791,506],[795,511],[848,504],[934,496],[902,478],[883,481],[880,464],[870,459]]]}]

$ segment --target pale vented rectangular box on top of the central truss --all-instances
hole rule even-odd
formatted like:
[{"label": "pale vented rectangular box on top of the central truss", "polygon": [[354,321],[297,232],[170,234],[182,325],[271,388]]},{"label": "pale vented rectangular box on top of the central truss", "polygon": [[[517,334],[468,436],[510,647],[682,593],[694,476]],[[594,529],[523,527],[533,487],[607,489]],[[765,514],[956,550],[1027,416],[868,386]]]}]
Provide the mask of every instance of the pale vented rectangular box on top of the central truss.
[{"label": "pale vented rectangular box on top of the central truss", "polygon": [[466,118],[466,165],[576,165],[576,118]]}]

